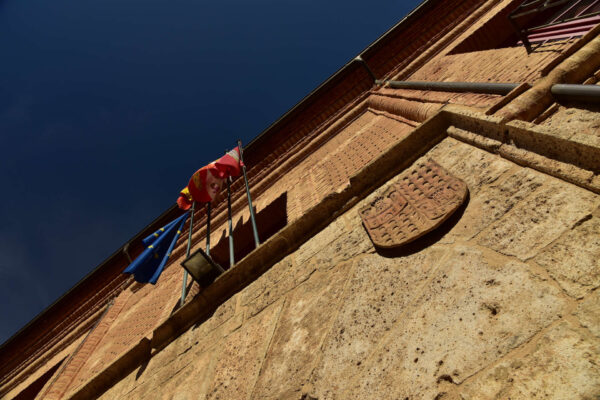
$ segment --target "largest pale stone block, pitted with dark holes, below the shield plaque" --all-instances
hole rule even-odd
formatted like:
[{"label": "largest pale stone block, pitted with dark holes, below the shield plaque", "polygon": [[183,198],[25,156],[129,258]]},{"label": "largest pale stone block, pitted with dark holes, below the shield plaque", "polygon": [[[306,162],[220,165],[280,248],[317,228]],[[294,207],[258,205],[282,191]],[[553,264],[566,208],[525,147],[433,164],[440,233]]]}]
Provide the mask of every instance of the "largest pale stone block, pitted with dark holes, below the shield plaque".
[{"label": "largest pale stone block, pitted with dark holes, below the shield plaque", "polygon": [[456,246],[405,316],[336,398],[434,398],[547,326],[560,291],[526,265]]}]

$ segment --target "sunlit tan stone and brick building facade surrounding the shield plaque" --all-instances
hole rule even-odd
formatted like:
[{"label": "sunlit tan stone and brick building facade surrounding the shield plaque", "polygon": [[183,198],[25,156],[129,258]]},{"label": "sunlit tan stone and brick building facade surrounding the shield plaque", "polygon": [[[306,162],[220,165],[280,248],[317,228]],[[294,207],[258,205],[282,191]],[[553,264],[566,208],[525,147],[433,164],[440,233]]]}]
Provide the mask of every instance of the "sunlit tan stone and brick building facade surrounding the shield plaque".
[{"label": "sunlit tan stone and brick building facade surrounding the shield plaque", "polygon": [[[0,349],[0,396],[598,398],[600,113],[550,86],[597,83],[600,27],[531,54],[489,48],[518,3],[430,0],[361,54],[379,78],[513,92],[392,89],[350,64],[248,148],[258,215],[277,208],[277,232],[210,287],[190,285],[183,306],[185,232],[156,286],[104,267],[116,283],[75,301],[78,319]],[[427,160],[466,183],[465,204],[375,247],[359,211]],[[215,212],[218,247],[224,204]]]}]

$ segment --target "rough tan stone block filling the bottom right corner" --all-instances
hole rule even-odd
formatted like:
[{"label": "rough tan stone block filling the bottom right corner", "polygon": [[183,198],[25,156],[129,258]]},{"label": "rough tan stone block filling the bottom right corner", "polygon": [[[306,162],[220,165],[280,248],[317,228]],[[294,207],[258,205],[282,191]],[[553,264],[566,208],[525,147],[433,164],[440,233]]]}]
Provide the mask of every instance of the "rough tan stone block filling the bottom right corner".
[{"label": "rough tan stone block filling the bottom right corner", "polygon": [[494,366],[469,382],[461,396],[471,399],[597,399],[600,397],[600,341],[569,323],[560,323],[531,352]]}]

